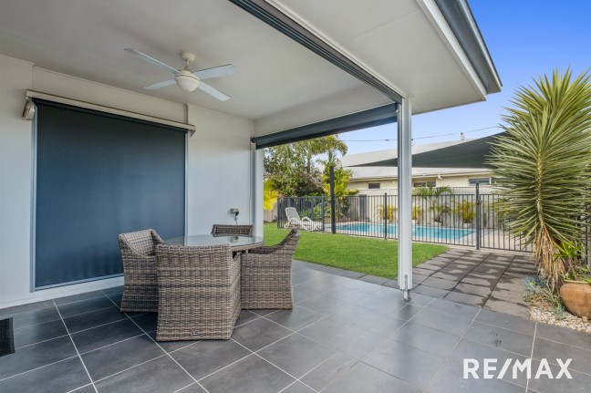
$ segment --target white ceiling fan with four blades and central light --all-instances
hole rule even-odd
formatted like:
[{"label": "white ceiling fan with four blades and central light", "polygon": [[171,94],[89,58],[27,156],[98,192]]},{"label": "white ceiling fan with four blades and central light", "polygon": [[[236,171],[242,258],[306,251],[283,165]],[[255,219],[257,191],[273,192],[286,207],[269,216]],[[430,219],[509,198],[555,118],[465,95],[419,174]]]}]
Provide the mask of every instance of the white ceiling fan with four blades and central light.
[{"label": "white ceiling fan with four blades and central light", "polygon": [[236,68],[233,67],[233,65],[231,64],[226,64],[225,66],[220,67],[202,69],[201,71],[193,72],[190,66],[193,60],[195,59],[195,55],[193,55],[191,52],[181,53],[181,58],[185,61],[185,67],[183,69],[176,69],[174,67],[162,63],[159,60],[156,60],[153,57],[149,57],[148,55],[141,53],[139,50],[127,48],[125,49],[125,51],[129,52],[130,54],[136,57],[140,57],[142,60],[146,60],[154,66],[161,67],[162,69],[165,69],[167,71],[171,71],[171,73],[174,74],[173,79],[165,80],[163,82],[146,86],[145,88],[148,90],[164,88],[166,86],[171,86],[176,83],[179,86],[179,88],[182,88],[185,91],[193,91],[195,88],[200,88],[202,91],[213,96],[214,98],[219,99],[220,101],[230,99],[230,97],[223,94],[223,92],[216,88],[212,88],[202,80],[232,75],[234,72],[236,72]]}]

